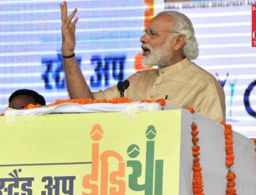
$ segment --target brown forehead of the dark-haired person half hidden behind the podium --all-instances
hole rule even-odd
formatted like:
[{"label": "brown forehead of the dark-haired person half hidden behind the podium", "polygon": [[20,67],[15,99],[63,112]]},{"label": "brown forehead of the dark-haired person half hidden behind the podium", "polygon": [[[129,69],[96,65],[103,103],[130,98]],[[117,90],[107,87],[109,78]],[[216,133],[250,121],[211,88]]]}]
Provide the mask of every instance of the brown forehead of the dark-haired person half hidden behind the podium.
[{"label": "brown forehead of the dark-haired person half hidden behind the podium", "polygon": [[34,97],[29,95],[18,95],[11,100],[9,108],[23,109],[24,107],[28,106],[28,104],[36,105]]}]

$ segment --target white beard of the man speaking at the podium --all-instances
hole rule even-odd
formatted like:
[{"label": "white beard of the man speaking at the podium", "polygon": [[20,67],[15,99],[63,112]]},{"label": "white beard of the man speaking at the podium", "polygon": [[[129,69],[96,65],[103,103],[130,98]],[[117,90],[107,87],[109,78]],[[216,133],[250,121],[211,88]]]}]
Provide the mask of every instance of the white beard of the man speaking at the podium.
[{"label": "white beard of the man speaking at the podium", "polygon": [[168,38],[166,42],[158,47],[153,49],[151,46],[147,44],[142,44],[142,46],[146,46],[150,49],[150,54],[148,56],[143,56],[142,64],[144,66],[160,66],[166,67],[172,61],[173,54],[170,52],[171,49],[171,38]]}]

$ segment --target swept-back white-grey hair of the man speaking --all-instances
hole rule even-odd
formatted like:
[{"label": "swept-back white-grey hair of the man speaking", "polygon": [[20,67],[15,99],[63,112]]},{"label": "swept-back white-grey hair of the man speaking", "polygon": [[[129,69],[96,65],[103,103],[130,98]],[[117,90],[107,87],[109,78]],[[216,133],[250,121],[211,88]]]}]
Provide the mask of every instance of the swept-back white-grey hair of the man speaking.
[{"label": "swept-back white-grey hair of the man speaking", "polygon": [[195,38],[195,30],[189,17],[178,11],[162,11],[157,15],[169,15],[176,21],[174,28],[171,30],[185,35],[186,40],[183,46],[183,53],[185,57],[190,60],[197,58],[199,48],[197,39]]}]

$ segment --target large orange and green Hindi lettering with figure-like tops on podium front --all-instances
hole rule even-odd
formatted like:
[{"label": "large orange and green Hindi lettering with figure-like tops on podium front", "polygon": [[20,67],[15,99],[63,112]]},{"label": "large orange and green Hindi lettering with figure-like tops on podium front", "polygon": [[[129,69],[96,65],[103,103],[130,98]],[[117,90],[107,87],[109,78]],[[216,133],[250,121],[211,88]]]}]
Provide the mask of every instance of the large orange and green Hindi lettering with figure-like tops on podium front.
[{"label": "large orange and green Hindi lettering with figure-like tops on podium front", "polygon": [[[164,173],[164,161],[154,159],[156,128],[153,125],[148,126],[146,130],[146,163],[135,160],[141,153],[138,145],[132,144],[127,148],[127,155],[133,159],[125,163],[121,154],[117,151],[106,150],[100,153],[100,140],[103,137],[103,130],[100,124],[94,124],[91,131],[92,138],[92,168],[91,173],[86,174],[83,178],[83,187],[90,192],[83,192],[83,195],[92,194],[119,194],[125,195],[126,181],[125,171],[129,170],[128,186],[133,191],[142,191],[147,195],[162,194],[162,181]],[[115,160],[116,169],[110,167]],[[112,163],[113,164],[113,163]],[[125,165],[126,164],[126,165]],[[143,176],[142,169],[145,169]],[[130,172],[131,171],[131,172]],[[144,178],[143,184],[139,179]]]}]

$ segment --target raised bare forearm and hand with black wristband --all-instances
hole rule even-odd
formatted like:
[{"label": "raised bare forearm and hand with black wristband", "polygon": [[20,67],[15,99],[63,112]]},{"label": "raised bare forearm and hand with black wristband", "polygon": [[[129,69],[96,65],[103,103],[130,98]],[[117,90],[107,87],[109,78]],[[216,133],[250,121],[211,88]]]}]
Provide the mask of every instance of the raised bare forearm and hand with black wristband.
[{"label": "raised bare forearm and hand with black wristband", "polygon": [[[77,9],[67,16],[67,3],[64,1],[61,7],[61,34],[62,34],[62,54],[63,56],[71,56],[75,52],[75,24],[78,17],[75,16]],[[73,21],[72,21],[73,19]],[[63,58],[65,77],[67,81],[67,89],[71,99],[90,98],[92,99],[92,91],[88,87],[84,75],[79,68],[75,56],[71,58]]]}]

